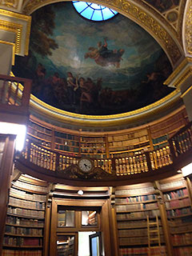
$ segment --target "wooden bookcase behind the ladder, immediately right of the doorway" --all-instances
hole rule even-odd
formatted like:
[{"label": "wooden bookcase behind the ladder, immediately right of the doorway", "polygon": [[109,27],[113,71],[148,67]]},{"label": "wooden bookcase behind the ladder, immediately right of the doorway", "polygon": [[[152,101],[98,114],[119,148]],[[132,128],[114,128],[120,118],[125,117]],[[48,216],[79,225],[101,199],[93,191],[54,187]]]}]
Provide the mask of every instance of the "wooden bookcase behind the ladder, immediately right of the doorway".
[{"label": "wooden bookcase behind the ladder, immediately right of the doorway", "polygon": [[[117,187],[115,209],[120,255],[148,255],[147,215],[151,222],[158,216],[162,250],[166,251],[158,199],[151,183]],[[151,255],[157,252],[154,249]]]}]

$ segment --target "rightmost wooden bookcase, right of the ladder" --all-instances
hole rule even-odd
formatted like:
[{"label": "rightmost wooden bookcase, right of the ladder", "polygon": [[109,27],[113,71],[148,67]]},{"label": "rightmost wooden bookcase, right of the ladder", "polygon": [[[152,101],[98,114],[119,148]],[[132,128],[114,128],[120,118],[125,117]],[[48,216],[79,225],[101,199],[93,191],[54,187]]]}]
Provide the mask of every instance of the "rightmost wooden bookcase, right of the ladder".
[{"label": "rightmost wooden bookcase, right of the ladder", "polygon": [[177,256],[192,252],[192,208],[186,181],[181,175],[160,181],[170,240]]}]

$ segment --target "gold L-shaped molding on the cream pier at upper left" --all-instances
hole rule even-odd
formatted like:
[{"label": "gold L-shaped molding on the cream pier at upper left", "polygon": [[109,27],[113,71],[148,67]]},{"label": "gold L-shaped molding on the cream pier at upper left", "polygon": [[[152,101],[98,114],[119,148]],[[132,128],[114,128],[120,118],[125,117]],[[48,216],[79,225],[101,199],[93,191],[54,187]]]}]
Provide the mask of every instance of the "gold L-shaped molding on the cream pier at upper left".
[{"label": "gold L-shaped molding on the cream pier at upper left", "polygon": [[[10,10],[3,10],[0,9],[0,15],[9,18],[17,18],[18,20],[22,20],[26,22],[26,42],[25,42],[25,54],[28,54],[29,51],[29,43],[30,43],[30,24],[31,24],[31,17],[26,16],[24,14],[14,13]],[[10,22],[0,19],[0,30],[6,30],[15,33],[15,54],[19,54],[21,50],[22,44],[22,31],[23,31],[23,24],[19,24],[17,22]]]}]

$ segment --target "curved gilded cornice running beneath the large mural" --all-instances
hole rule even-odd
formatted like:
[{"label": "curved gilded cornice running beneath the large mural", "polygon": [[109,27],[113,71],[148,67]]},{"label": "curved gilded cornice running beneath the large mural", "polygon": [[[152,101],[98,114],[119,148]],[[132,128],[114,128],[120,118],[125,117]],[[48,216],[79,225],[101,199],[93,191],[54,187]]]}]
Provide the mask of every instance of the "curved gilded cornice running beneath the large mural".
[{"label": "curved gilded cornice running beneath the large mural", "polygon": [[30,108],[38,114],[49,116],[60,122],[74,123],[74,125],[80,126],[120,126],[124,123],[136,122],[141,119],[149,118],[155,114],[159,114],[164,110],[174,106],[180,99],[179,90],[174,90],[171,94],[165,98],[160,99],[158,102],[154,102],[149,106],[142,107],[138,110],[133,110],[122,114],[111,114],[105,116],[94,116],[86,114],[74,114],[64,110],[59,110],[53,106],[42,102],[38,98],[31,95]]}]

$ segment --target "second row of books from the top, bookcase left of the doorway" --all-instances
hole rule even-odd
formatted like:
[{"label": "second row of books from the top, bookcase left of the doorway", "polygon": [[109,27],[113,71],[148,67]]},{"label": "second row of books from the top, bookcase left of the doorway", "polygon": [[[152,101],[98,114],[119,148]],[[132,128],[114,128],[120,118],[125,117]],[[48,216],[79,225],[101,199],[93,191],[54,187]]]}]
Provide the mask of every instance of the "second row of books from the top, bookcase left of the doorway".
[{"label": "second row of books from the top, bookcase left of the doorway", "polygon": [[13,196],[16,198],[21,198],[21,199],[26,199],[26,200],[46,202],[46,195],[29,194],[22,190],[15,190],[14,188],[10,188],[10,196]]}]

